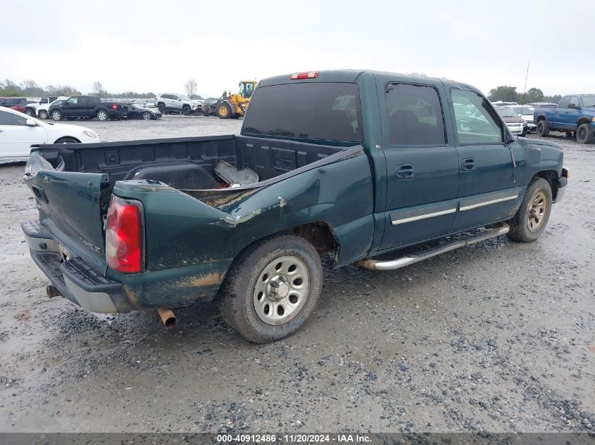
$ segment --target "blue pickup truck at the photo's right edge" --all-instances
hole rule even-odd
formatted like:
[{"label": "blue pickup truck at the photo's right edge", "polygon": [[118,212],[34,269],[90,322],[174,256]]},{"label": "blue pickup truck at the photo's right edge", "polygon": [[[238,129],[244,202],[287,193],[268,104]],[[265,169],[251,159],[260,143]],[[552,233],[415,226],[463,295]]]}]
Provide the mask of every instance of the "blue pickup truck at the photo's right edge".
[{"label": "blue pickup truck at the photo's right edge", "polygon": [[548,136],[551,130],[575,133],[577,142],[593,142],[595,129],[595,94],[564,96],[556,108],[535,108],[537,136]]}]

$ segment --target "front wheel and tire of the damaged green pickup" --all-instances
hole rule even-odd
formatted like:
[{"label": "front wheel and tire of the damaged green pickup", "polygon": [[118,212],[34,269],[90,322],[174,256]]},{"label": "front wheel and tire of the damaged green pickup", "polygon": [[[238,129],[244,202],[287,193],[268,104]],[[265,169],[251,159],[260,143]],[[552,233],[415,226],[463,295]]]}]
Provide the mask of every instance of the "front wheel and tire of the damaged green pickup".
[{"label": "front wheel and tire of the damaged green pickup", "polygon": [[546,228],[551,212],[551,186],[543,178],[533,178],[513,219],[508,238],[520,243],[532,243]]}]

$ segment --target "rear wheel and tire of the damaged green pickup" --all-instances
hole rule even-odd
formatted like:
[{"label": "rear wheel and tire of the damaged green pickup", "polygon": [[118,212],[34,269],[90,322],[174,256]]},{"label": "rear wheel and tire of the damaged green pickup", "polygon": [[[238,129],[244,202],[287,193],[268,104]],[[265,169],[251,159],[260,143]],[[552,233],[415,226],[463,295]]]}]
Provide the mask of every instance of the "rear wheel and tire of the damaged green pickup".
[{"label": "rear wheel and tire of the damaged green pickup", "polygon": [[255,343],[292,335],[314,310],[322,291],[320,255],[294,235],[258,241],[237,257],[219,299],[230,327]]}]

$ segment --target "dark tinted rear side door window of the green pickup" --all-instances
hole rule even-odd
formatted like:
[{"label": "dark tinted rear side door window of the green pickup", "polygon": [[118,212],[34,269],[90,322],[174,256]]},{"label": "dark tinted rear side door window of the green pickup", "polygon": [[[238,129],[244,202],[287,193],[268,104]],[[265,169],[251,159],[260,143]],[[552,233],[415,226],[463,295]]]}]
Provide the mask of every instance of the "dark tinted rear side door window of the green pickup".
[{"label": "dark tinted rear side door window of the green pickup", "polygon": [[443,146],[446,143],[436,89],[425,85],[391,84],[386,98],[391,145]]}]

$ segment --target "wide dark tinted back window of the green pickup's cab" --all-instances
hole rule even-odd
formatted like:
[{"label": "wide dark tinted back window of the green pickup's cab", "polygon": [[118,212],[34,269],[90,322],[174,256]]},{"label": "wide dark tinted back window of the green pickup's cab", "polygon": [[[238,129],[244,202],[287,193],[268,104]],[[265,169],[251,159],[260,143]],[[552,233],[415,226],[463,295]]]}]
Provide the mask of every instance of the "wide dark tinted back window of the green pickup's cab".
[{"label": "wide dark tinted back window of the green pickup's cab", "polygon": [[361,142],[358,86],[325,82],[258,87],[242,134]]}]

